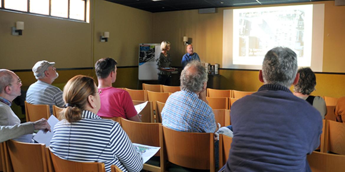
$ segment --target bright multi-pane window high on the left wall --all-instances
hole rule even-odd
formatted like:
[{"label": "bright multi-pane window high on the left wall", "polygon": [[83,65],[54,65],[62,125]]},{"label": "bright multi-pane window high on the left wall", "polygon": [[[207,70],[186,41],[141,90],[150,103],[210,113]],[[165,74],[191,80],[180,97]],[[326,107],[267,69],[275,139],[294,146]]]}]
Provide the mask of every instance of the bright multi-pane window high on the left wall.
[{"label": "bright multi-pane window high on the left wall", "polygon": [[86,21],[90,0],[0,0],[0,9]]}]

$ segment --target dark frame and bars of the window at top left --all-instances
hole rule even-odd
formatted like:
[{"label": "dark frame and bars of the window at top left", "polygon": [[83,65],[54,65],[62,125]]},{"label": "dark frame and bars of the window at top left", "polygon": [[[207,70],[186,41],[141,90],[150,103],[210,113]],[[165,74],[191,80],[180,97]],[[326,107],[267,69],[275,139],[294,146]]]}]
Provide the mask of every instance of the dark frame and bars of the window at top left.
[{"label": "dark frame and bars of the window at top left", "polygon": [[[88,6],[88,3],[89,3],[91,0],[82,0],[82,1],[84,1],[84,20],[71,19],[71,18],[70,18],[70,0],[68,0],[67,18],[65,18],[65,17],[58,17],[58,16],[53,16],[53,15],[51,15],[51,0],[48,0],[48,1],[49,1],[49,14],[48,14],[48,15],[47,15],[47,14],[39,14],[39,13],[30,12],[30,0],[27,0],[27,4],[28,4],[27,11],[20,11],[20,10],[14,10],[14,9],[5,8],[5,7],[4,7],[5,1],[10,1],[10,0],[1,0],[1,7],[0,7],[0,10],[8,10],[8,11],[14,11],[14,12],[20,12],[20,13],[26,13],[26,14],[33,14],[33,15],[40,15],[40,16],[45,16],[45,17],[57,18],[57,19],[65,19],[65,20],[78,21],[78,22],[87,22],[87,20],[86,20],[86,19],[87,19],[86,14],[88,13],[88,11],[87,11],[87,6]],[[88,23],[88,22],[87,22],[87,23]]]}]

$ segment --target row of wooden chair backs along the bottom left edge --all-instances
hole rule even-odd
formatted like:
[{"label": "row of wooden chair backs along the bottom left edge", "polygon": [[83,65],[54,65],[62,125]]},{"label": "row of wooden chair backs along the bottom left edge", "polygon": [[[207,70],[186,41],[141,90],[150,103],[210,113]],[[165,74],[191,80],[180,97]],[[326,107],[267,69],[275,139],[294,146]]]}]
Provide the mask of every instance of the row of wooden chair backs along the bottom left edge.
[{"label": "row of wooden chair backs along the bottom left edge", "polygon": [[[8,140],[0,143],[0,148],[3,172],[105,172],[104,163],[64,160],[45,144]],[[121,172],[116,165],[111,166],[111,171]]]}]

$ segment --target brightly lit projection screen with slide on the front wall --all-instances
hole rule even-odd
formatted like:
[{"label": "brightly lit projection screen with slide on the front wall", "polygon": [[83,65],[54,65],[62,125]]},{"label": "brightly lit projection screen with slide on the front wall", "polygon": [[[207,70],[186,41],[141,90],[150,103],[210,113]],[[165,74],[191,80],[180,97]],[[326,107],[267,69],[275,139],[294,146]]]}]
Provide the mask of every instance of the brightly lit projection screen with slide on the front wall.
[{"label": "brightly lit projection screen with slide on the front wall", "polygon": [[224,10],[223,68],[261,69],[266,52],[283,46],[321,72],[323,18],[324,4]]}]

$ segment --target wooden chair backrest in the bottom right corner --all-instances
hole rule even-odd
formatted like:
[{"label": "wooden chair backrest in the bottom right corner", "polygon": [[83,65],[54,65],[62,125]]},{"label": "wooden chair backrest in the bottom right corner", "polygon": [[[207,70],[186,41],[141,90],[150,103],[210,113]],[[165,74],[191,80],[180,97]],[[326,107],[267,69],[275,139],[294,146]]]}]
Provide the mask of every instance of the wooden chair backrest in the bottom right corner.
[{"label": "wooden chair backrest in the bottom right corner", "polygon": [[313,172],[344,172],[345,155],[336,155],[314,151],[307,155],[309,166]]}]

